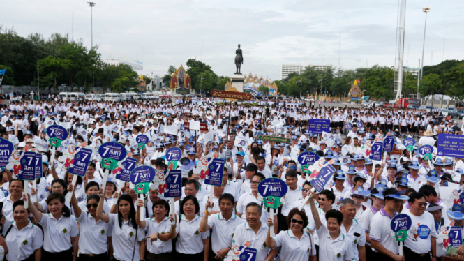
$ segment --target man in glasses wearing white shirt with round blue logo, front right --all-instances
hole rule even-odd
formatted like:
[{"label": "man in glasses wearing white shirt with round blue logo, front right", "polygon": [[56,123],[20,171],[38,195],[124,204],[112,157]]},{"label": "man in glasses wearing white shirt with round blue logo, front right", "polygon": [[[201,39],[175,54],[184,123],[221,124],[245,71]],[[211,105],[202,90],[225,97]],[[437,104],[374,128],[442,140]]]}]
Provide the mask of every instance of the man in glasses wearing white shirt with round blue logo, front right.
[{"label": "man in glasses wearing white shirt with round blue logo, front right", "polygon": [[426,197],[422,193],[413,192],[407,201],[411,208],[405,211],[405,214],[410,216],[412,227],[407,231],[404,247],[405,260],[436,261],[437,231],[432,214],[426,212]]}]

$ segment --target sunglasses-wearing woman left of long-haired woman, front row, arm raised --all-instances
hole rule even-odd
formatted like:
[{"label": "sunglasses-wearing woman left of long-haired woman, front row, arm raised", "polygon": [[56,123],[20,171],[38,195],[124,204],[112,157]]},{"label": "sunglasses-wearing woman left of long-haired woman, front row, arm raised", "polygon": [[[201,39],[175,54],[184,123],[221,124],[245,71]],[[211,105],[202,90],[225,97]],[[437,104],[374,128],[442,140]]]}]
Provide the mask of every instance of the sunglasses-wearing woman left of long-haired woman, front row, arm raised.
[{"label": "sunglasses-wearing woman left of long-haired woman, front row, arm raised", "polygon": [[[68,186],[68,192],[73,191],[73,185]],[[79,260],[104,260],[107,257],[108,237],[111,237],[110,225],[97,217],[97,207],[100,202],[98,195],[89,195],[86,199],[87,209],[79,207],[79,202],[73,193],[71,204],[74,214],[80,224]],[[87,210],[87,211],[86,211]]]}]

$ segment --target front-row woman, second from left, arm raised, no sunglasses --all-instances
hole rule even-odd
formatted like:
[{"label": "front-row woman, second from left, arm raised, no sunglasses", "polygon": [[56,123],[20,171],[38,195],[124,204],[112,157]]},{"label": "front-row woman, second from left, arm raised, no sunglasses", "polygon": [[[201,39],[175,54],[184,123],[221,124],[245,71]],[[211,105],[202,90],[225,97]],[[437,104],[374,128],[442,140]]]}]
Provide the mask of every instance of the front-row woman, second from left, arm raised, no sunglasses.
[{"label": "front-row woman, second from left, arm raised, no sunglasses", "polygon": [[79,229],[64,202],[62,193],[50,194],[47,197],[50,214],[43,214],[29,198],[29,210],[43,228],[43,260],[77,260]]}]

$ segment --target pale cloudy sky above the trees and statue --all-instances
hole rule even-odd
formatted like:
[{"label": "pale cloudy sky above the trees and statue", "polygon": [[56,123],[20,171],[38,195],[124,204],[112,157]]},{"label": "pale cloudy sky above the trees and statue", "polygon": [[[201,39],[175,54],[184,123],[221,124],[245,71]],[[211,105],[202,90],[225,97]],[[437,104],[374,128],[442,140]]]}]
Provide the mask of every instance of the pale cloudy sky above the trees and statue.
[{"label": "pale cloudy sky above the trees and statue", "polygon": [[[142,73],[148,76],[162,77],[170,65],[186,68],[190,58],[208,64],[217,75],[230,76],[238,44],[244,54],[241,72],[270,80],[280,80],[282,64],[355,69],[395,62],[394,0],[94,2],[93,45],[102,58],[142,61]],[[417,68],[421,58],[426,6],[431,11],[424,65],[463,60],[464,1],[408,0],[404,65]],[[0,17],[3,27],[13,27],[20,36],[68,33],[91,47],[87,1],[6,1]]]}]

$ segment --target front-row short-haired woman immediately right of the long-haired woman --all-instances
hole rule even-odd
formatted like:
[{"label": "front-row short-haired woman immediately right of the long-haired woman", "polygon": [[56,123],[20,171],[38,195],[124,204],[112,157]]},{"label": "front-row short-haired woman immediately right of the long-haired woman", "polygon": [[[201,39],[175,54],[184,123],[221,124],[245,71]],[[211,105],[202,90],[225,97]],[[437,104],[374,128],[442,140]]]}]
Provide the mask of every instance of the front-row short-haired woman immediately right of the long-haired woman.
[{"label": "front-row short-haired woman immediately right of the long-haired woman", "polygon": [[[172,241],[174,239],[176,225],[171,225],[168,214],[169,204],[166,200],[158,200],[153,204],[154,218],[145,218],[140,221],[140,207],[144,206],[142,200],[137,201],[137,214],[135,220],[140,228],[147,230],[147,252],[145,260],[172,260]],[[160,239],[160,240],[158,240]]]}]

